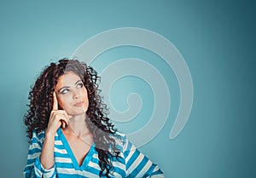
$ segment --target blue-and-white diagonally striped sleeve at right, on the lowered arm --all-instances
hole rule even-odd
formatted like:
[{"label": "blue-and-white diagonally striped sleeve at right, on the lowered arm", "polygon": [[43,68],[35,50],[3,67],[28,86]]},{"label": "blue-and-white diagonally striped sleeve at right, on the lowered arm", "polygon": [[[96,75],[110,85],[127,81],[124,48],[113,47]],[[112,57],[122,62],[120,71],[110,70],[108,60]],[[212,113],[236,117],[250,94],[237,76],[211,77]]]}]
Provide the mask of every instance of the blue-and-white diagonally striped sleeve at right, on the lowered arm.
[{"label": "blue-and-white diagonally striped sleeve at right, on the lowered arm", "polygon": [[127,140],[125,136],[124,156],[126,165],[126,177],[164,177],[157,164],[152,163],[142,152]]}]

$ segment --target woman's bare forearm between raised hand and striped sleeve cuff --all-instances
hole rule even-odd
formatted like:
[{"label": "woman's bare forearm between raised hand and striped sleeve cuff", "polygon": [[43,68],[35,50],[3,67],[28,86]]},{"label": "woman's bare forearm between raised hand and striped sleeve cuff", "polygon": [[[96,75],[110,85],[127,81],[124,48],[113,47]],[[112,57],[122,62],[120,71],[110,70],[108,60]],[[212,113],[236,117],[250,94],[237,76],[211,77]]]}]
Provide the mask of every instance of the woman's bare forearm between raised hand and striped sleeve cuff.
[{"label": "woman's bare forearm between raised hand and striped sleeve cuff", "polygon": [[40,156],[40,161],[45,169],[50,169],[55,164],[54,149],[55,135],[46,132],[44,138],[44,146]]}]

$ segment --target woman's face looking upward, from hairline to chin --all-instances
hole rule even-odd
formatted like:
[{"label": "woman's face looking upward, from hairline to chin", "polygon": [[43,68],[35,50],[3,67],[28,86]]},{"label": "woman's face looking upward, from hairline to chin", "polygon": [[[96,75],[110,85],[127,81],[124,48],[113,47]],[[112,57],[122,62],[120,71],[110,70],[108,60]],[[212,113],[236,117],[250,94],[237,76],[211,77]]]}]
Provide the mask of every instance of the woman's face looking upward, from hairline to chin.
[{"label": "woman's face looking upward, from hairline to chin", "polygon": [[89,106],[87,90],[81,78],[74,72],[67,72],[58,78],[55,86],[58,104],[68,115],[84,114]]}]

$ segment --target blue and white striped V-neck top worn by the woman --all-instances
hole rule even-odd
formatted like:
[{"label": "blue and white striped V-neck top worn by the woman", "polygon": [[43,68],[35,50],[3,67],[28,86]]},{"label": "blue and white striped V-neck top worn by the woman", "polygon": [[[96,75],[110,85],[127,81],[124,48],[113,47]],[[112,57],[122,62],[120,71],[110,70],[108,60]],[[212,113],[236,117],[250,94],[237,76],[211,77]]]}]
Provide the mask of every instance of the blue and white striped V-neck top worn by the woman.
[{"label": "blue and white striped V-neck top worn by the woman", "polygon": [[[126,136],[117,133],[121,141],[116,140],[120,149],[119,159],[113,159],[114,172],[110,177],[164,177],[159,166],[153,164],[147,157],[139,152],[137,148],[127,140]],[[33,131],[30,142],[27,164],[24,176],[28,177],[99,177],[100,166],[98,152],[95,144],[84,158],[83,164],[79,166],[61,128],[55,134],[55,165],[51,169],[44,169],[40,162],[40,154],[44,145],[44,131],[36,133]]]}]

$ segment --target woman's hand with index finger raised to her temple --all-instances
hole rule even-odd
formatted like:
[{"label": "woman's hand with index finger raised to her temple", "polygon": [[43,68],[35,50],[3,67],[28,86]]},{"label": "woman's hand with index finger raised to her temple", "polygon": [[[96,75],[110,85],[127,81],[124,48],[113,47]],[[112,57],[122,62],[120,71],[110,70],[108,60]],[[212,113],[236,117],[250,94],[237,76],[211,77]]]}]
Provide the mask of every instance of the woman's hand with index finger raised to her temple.
[{"label": "woman's hand with index finger raised to her temple", "polygon": [[47,126],[47,133],[50,135],[55,135],[57,129],[62,127],[63,129],[68,124],[68,120],[71,118],[68,116],[65,110],[58,110],[58,100],[55,94],[53,93],[53,106],[49,116],[49,123]]}]

